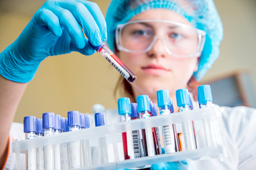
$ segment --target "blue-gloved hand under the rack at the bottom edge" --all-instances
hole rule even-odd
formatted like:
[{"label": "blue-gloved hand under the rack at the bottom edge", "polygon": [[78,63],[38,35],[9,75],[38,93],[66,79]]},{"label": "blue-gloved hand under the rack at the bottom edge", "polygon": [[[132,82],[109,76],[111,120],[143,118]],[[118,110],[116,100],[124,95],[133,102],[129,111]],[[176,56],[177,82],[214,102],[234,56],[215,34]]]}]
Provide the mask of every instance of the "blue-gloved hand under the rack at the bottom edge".
[{"label": "blue-gloved hand under the rack at the bottom edge", "polygon": [[164,162],[152,164],[150,170],[196,170],[193,164],[189,162]]}]

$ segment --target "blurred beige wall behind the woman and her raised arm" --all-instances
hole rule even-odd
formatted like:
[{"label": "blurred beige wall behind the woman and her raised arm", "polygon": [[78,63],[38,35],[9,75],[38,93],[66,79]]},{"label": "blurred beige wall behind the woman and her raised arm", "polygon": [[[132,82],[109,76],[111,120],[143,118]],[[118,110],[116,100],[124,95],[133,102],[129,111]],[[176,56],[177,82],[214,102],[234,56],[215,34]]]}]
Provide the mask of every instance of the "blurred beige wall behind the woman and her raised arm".
[{"label": "blurred beige wall behind the woman and her raised arm", "polygon": [[[11,44],[45,1],[0,0],[0,51]],[[110,0],[94,0],[105,15]],[[224,26],[220,57],[203,82],[248,69],[256,91],[256,1],[214,0]],[[95,53],[83,56],[71,53],[50,56],[42,61],[18,106],[14,121],[24,116],[41,117],[55,112],[66,117],[67,111],[92,112],[93,104],[117,109],[113,91],[119,73]]]}]

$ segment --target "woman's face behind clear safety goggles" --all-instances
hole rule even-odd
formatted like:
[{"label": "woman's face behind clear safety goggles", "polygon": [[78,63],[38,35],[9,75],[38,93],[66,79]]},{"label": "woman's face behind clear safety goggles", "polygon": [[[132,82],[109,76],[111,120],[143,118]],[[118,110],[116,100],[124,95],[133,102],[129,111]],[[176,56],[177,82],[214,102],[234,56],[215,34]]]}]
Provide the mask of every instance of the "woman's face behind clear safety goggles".
[{"label": "woman's face behind clear safety goggles", "polygon": [[[131,20],[143,19],[171,20],[191,25],[187,19],[168,9],[151,9],[137,14]],[[151,27],[154,28],[157,36],[166,34],[160,23],[154,23]],[[132,47],[134,44],[130,45],[131,48],[134,48]],[[189,46],[187,48],[190,50],[189,48],[194,49],[195,47]],[[194,71],[198,69],[198,57],[181,58],[170,55],[160,38],[147,52],[127,53],[117,51],[116,54],[137,76],[136,81],[130,83],[135,96],[145,94],[154,97],[156,91],[161,89],[168,89],[170,94],[175,94],[176,90],[186,88]]]}]

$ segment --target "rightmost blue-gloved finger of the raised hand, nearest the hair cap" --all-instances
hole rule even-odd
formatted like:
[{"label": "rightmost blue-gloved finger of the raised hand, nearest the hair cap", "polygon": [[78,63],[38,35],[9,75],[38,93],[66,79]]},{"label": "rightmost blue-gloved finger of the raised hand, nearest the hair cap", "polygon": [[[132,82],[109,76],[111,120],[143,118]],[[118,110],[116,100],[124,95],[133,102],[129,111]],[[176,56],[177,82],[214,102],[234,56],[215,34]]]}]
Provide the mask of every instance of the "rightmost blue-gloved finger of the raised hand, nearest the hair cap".
[{"label": "rightmost blue-gloved finger of the raised hand, nearest the hair cap", "polygon": [[94,18],[95,22],[100,28],[101,39],[102,41],[105,42],[107,40],[107,25],[106,25],[106,20],[99,6],[96,3],[90,2],[90,1],[81,1],[81,0],[76,0],[76,1],[84,4],[85,7],[88,9],[88,11],[91,13],[92,17]]}]

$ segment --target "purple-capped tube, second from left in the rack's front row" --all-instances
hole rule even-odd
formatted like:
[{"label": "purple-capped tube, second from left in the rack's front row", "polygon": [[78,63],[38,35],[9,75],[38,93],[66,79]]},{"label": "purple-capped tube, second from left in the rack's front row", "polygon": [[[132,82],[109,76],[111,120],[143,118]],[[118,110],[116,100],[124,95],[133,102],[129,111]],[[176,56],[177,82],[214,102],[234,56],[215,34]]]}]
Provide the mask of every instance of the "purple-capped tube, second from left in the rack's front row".
[{"label": "purple-capped tube, second from left in the rack's front row", "polygon": [[[51,136],[54,134],[55,116],[53,112],[43,114],[43,136]],[[48,145],[43,147],[45,170],[53,170],[54,167],[54,146]]]}]

